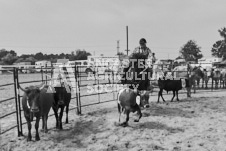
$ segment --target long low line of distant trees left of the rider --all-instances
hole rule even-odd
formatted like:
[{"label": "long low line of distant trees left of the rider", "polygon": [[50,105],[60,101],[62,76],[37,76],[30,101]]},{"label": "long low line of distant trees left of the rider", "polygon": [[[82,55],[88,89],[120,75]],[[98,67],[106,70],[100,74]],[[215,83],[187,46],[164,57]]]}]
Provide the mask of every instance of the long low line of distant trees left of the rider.
[{"label": "long low line of distant trees left of the rider", "polygon": [[22,54],[20,56],[14,50],[0,50],[0,65],[12,65],[14,63],[19,62],[31,62],[31,64],[35,64],[36,61],[40,60],[48,60],[52,63],[57,62],[57,59],[69,59],[72,60],[86,60],[87,57],[91,55],[89,52],[85,50],[76,50],[72,51],[70,54],[43,54],[42,52],[38,52],[36,54]]}]

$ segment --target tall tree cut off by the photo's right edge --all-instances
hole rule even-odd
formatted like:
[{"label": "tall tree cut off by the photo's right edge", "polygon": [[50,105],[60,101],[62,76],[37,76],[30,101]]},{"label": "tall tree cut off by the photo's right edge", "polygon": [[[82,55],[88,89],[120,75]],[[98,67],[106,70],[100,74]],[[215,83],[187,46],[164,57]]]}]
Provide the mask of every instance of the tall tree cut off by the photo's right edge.
[{"label": "tall tree cut off by the photo's right edge", "polygon": [[226,60],[226,28],[222,28],[218,30],[220,36],[223,38],[223,40],[218,40],[213,44],[212,47],[212,56],[223,58],[223,60]]}]

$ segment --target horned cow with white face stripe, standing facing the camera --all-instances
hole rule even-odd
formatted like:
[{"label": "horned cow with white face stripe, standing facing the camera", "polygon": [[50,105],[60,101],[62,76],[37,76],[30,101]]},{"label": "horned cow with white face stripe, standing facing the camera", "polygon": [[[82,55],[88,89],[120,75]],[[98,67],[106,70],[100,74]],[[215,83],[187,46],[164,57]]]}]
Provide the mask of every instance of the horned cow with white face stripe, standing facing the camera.
[{"label": "horned cow with white face stripe, standing facing the camera", "polygon": [[28,126],[28,137],[27,141],[31,141],[31,122],[33,121],[33,117],[36,117],[35,129],[36,135],[35,140],[39,141],[39,121],[40,117],[42,117],[42,129],[47,133],[47,119],[50,108],[53,105],[54,98],[53,94],[47,93],[48,86],[43,85],[42,87],[37,86],[29,86],[23,89],[20,87],[22,91],[24,91],[24,95],[22,98],[22,107],[24,110],[24,117],[27,121]]}]

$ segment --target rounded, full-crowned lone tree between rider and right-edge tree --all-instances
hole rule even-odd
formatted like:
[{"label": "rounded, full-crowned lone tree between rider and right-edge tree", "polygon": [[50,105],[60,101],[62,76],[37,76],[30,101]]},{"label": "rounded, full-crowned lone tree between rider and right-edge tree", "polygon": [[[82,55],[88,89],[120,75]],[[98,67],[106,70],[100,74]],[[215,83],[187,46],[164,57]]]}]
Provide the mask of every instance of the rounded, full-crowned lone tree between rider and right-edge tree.
[{"label": "rounded, full-crowned lone tree between rider and right-edge tree", "polygon": [[198,62],[202,58],[201,47],[199,47],[194,40],[189,40],[180,50],[181,56],[186,61]]}]

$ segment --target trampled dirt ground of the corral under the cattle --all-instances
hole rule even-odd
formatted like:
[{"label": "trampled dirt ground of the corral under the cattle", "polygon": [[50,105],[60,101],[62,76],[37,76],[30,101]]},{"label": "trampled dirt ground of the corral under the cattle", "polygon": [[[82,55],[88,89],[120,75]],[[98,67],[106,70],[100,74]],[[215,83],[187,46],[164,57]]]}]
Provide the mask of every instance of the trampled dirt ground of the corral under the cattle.
[{"label": "trampled dirt ground of the corral under the cattle", "polygon": [[32,142],[26,141],[25,125],[25,137],[17,137],[16,130],[0,136],[1,150],[226,150],[226,91],[200,92],[192,98],[180,94],[180,102],[169,102],[171,97],[157,104],[151,96],[140,122],[133,122],[137,114],[131,114],[128,127],[118,124],[116,101],[83,108],[82,116],[70,111],[70,122],[61,131],[49,118],[49,131],[41,131],[37,142],[33,122]]}]

